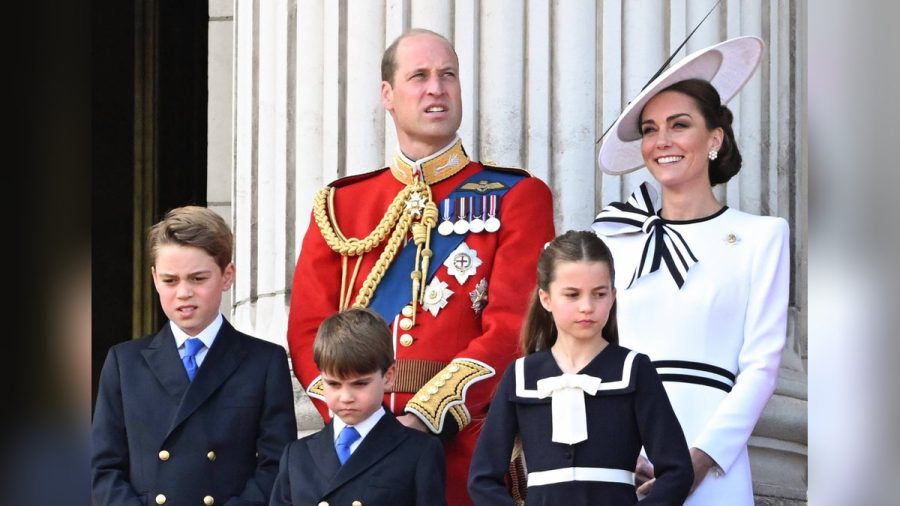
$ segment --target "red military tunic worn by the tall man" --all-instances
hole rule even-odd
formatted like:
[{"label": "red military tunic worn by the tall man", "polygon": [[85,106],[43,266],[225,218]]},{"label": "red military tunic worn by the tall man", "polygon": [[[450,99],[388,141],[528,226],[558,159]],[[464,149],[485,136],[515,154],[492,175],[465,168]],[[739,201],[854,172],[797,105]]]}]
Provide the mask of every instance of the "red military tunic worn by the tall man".
[{"label": "red military tunic worn by the tall man", "polygon": [[[434,202],[440,206],[440,202],[463,181],[481,170],[480,163],[470,162],[448,179],[433,184]],[[345,237],[362,238],[376,227],[388,205],[405,185],[395,179],[389,170],[381,170],[345,178],[332,186],[336,187],[335,222]],[[457,406],[455,413],[451,413],[449,407],[438,410],[438,425],[447,455],[447,500],[452,505],[471,503],[466,482],[478,432],[499,379],[498,373],[519,356],[519,332],[535,287],[537,258],[544,244],[554,237],[552,197],[550,189],[540,179],[525,177],[519,181],[499,199],[499,208],[502,225],[497,232],[469,233],[464,239],[464,244],[475,250],[482,262],[473,275],[460,284],[447,267],[441,265],[438,268],[435,277],[447,283],[453,292],[447,299],[446,307],[437,316],[419,307],[416,325],[409,331],[399,328],[399,318],[388,322],[393,331],[398,363],[413,359],[446,364],[454,359],[469,359],[473,361],[471,363],[490,369],[490,374],[471,380],[463,379],[461,384],[455,383],[465,409],[460,411]],[[436,233],[432,231],[432,234]],[[363,257],[351,291],[351,303],[383,245]],[[441,264],[443,261],[432,259],[432,262]],[[348,278],[355,262],[356,258],[348,260]],[[487,282],[487,304],[477,313],[473,309],[470,293],[481,280]],[[428,280],[425,282],[427,284]],[[312,357],[313,340],[322,320],[338,310],[340,286],[341,256],[328,247],[315,220],[311,219],[297,260],[288,322],[288,344],[294,373],[304,388],[310,387],[319,376]],[[412,336],[411,343],[408,337],[401,340],[404,334]],[[450,367],[450,371],[459,369]],[[448,378],[447,370],[441,371],[440,376],[452,385],[456,381],[456,378]],[[435,380],[439,379],[436,375]],[[439,381],[437,384],[444,383]],[[430,386],[433,388],[434,384]],[[428,387],[425,385],[419,393],[423,394]],[[443,390],[436,396],[412,392],[387,394],[385,405],[400,415],[414,395],[419,399],[440,397]],[[315,397],[313,401],[322,417],[328,420],[325,403]],[[419,412],[414,414],[423,418]],[[465,415],[469,418],[466,419]],[[448,434],[452,436],[447,437]]]}]

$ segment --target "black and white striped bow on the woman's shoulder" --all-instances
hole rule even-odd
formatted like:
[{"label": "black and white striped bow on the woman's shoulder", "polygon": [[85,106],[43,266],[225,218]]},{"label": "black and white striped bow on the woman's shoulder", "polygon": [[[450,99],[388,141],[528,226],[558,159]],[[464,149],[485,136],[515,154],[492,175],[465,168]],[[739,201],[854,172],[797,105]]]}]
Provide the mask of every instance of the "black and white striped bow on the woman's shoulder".
[{"label": "black and white striped bow on the woman's shoulder", "polygon": [[691,252],[684,237],[656,214],[655,202],[656,190],[649,184],[642,183],[627,202],[613,202],[604,207],[591,228],[605,236],[637,232],[647,234],[641,261],[634,270],[628,288],[641,276],[656,272],[665,262],[669,274],[680,289],[688,270],[697,263],[697,257]]}]

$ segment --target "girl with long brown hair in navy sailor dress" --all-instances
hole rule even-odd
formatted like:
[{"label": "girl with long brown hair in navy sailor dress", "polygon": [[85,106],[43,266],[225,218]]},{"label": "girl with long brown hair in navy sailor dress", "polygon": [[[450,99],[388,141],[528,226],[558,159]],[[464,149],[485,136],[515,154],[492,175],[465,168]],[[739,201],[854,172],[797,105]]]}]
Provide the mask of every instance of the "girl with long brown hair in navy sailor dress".
[{"label": "girl with long brown hair in navy sailor dress", "polygon": [[637,504],[642,447],[656,481],[641,504],[682,504],[693,481],[687,443],[647,356],[617,345],[609,249],[569,231],[548,243],[537,270],[525,356],[491,402],[469,471],[472,500],[515,504],[506,476],[518,436],[526,505]]}]

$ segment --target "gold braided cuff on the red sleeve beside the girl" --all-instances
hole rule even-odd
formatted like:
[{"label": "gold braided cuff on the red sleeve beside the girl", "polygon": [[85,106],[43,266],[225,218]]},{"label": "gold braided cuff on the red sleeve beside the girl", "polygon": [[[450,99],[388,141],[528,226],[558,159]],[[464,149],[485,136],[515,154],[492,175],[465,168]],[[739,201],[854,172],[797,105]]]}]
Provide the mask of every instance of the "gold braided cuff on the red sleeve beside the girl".
[{"label": "gold braided cuff on the red sleeve beside the girl", "polygon": [[494,374],[493,367],[479,360],[455,359],[410,399],[405,411],[416,415],[435,434],[444,430],[448,414],[462,430],[472,421],[465,406],[466,391]]}]

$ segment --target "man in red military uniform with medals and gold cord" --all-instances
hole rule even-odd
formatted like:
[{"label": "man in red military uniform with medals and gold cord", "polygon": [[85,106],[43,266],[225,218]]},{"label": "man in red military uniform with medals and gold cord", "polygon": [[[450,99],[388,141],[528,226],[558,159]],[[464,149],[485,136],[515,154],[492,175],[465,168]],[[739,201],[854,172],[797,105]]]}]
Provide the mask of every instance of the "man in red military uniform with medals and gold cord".
[{"label": "man in red military uniform with medals and gold cord", "polygon": [[456,134],[458,73],[453,47],[427,30],[411,30],[385,51],[381,96],[397,153],[390,167],[316,195],[288,324],[294,372],[328,419],[312,358],[316,329],[351,306],[385,318],[397,362],[385,405],[444,440],[452,505],[471,503],[478,422],[519,354],[537,258],[554,237],[546,184],[466,155]]}]

